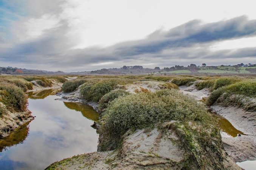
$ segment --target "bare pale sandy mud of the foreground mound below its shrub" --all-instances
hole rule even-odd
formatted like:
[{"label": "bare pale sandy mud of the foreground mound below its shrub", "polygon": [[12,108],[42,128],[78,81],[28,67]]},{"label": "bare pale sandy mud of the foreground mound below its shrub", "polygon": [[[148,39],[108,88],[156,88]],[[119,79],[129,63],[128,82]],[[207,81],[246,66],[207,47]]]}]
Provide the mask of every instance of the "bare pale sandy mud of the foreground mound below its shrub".
[{"label": "bare pale sandy mud of the foreground mound below its shrub", "polygon": [[[170,122],[175,123],[175,121]],[[224,154],[224,153],[223,153]],[[51,164],[46,169],[182,169],[185,165],[186,150],[173,130],[162,134],[157,128],[128,131],[124,135],[120,152],[94,152],[73,156]],[[226,169],[239,170],[225,155]],[[188,165],[193,169],[193,165]]]}]

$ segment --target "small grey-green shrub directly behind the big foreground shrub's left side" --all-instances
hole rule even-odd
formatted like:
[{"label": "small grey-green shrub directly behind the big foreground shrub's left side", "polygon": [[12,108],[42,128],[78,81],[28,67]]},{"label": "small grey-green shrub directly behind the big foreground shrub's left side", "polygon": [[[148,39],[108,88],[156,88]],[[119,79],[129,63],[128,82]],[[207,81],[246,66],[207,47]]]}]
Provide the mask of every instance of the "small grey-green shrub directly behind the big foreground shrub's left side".
[{"label": "small grey-green shrub directly behind the big foreground shrub's left side", "polygon": [[104,109],[106,109],[109,102],[113,101],[114,99],[120,96],[126,96],[128,94],[130,93],[122,89],[112,90],[109,93],[102,96],[102,98],[99,101],[98,109],[102,112]]}]

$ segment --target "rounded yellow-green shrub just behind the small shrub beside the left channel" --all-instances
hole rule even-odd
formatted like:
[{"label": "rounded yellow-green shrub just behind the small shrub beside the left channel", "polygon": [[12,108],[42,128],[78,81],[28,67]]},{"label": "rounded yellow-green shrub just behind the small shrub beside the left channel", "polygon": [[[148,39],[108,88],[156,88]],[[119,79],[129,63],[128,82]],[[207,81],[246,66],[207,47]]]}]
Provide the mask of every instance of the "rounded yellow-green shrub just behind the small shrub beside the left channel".
[{"label": "rounded yellow-green shrub just behind the small shrub beside the left channel", "polygon": [[90,93],[92,96],[91,100],[94,102],[98,102],[100,98],[102,98],[102,96],[104,96],[106,93],[109,93],[111,90],[114,90],[114,88],[117,87],[118,83],[118,80],[106,79],[94,84],[90,89]]}]

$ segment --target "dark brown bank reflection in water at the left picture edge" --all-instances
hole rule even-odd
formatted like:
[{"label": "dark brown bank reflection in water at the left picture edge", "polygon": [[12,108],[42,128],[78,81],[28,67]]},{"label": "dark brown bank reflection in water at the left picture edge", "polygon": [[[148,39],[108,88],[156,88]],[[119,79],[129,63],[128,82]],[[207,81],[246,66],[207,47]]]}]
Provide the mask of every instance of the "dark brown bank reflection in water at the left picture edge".
[{"label": "dark brown bank reflection in water at the left picture edge", "polygon": [[28,124],[29,122],[16,129],[15,132],[11,133],[8,137],[0,139],[0,152],[7,150],[11,146],[23,143],[28,136]]}]

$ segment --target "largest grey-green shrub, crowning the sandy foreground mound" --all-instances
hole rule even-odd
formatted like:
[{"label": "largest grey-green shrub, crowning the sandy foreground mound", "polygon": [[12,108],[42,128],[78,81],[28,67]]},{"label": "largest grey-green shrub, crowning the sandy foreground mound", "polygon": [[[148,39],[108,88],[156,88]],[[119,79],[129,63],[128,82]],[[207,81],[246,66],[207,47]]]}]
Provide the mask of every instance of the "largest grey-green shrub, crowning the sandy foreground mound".
[{"label": "largest grey-green shrub, crowning the sandy foreground mound", "polygon": [[128,129],[151,127],[163,121],[202,123],[206,128],[211,116],[202,104],[177,90],[139,93],[119,97],[109,103],[103,112],[99,129],[102,150],[114,149]]}]

